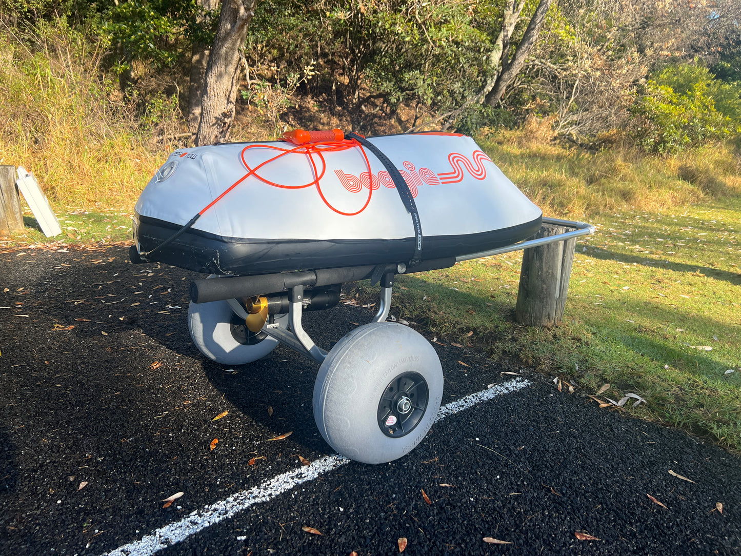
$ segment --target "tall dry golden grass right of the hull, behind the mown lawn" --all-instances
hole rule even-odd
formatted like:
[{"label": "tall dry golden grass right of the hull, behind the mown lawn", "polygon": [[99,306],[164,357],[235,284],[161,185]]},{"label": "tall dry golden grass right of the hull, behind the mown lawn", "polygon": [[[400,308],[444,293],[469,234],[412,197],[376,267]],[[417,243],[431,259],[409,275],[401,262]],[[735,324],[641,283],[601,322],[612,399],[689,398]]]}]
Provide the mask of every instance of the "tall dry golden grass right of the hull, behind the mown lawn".
[{"label": "tall dry golden grass right of the hull, behind the mown lawn", "polygon": [[546,214],[660,212],[741,191],[741,162],[731,145],[665,158],[625,145],[589,153],[551,143],[545,123],[488,133],[479,144]]}]

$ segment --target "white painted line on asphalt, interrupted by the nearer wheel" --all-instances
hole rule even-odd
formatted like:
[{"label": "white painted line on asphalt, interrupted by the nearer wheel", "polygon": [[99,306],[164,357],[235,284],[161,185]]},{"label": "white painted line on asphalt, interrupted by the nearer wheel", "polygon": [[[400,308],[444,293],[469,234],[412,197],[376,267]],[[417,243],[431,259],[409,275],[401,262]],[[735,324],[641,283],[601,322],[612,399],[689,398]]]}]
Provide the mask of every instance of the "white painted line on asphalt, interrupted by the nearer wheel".
[{"label": "white painted line on asphalt, interrupted by the nearer wheel", "polygon": [[[459,411],[471,408],[477,403],[491,400],[502,394],[514,392],[530,384],[529,380],[516,378],[507,383],[497,384],[492,388],[476,392],[476,394],[462,397],[460,400],[442,406],[437,414],[435,423],[445,419],[448,415],[453,415]],[[116,550],[107,552],[102,556],[151,556],[155,552],[167,548],[167,546],[185,540],[190,535],[195,535],[207,527],[233,517],[234,514],[242,512],[250,506],[268,502],[279,496],[279,494],[290,491],[295,486],[308,483],[308,481],[314,480],[328,471],[344,466],[345,463],[350,463],[350,460],[339,454],[322,457],[321,460],[316,460],[309,466],[302,466],[298,469],[287,471],[252,489],[237,492],[225,500],[205,506],[203,509],[195,510],[182,520],[156,529],[151,535],[145,535],[142,537],[142,540],[119,546]]]}]

